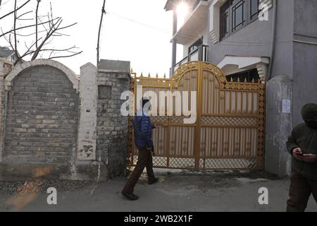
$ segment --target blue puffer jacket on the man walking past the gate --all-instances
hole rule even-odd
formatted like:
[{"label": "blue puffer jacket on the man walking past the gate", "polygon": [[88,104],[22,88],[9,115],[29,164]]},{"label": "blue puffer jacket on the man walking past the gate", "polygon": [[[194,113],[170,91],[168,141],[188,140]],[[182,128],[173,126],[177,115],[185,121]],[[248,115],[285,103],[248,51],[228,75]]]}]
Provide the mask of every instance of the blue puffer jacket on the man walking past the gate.
[{"label": "blue puffer jacket on the man walking past the gate", "polygon": [[135,131],[135,145],[137,148],[153,147],[151,119],[146,114],[137,114],[133,118],[133,128]]}]

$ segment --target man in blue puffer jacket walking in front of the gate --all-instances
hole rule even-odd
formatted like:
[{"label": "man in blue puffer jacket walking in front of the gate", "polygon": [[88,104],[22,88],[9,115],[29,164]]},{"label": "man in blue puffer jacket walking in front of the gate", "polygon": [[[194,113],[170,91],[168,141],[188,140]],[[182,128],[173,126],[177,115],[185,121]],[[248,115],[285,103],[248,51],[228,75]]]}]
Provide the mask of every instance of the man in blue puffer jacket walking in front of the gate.
[{"label": "man in blue puffer jacket walking in front of the gate", "polygon": [[142,109],[137,112],[137,116],[133,119],[133,129],[135,133],[135,145],[139,150],[139,156],[135,170],[133,170],[127,184],[122,191],[123,196],[134,201],[139,197],[133,194],[135,184],[139,180],[143,170],[147,167],[148,183],[154,184],[158,179],[154,176],[153,160],[151,152],[154,152],[154,145],[152,141],[152,129],[155,126],[151,124],[149,118],[149,109],[151,109],[151,102],[148,99],[142,99]]}]

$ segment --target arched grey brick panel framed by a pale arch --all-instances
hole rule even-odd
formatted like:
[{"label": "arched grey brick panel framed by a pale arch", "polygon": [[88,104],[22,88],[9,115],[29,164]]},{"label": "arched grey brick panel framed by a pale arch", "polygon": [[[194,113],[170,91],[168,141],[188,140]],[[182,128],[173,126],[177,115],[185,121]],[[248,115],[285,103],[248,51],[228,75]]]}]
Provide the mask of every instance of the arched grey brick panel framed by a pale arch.
[{"label": "arched grey brick panel framed by a pale arch", "polygon": [[69,162],[77,124],[78,95],[67,76],[51,66],[27,69],[8,91],[5,160]]}]

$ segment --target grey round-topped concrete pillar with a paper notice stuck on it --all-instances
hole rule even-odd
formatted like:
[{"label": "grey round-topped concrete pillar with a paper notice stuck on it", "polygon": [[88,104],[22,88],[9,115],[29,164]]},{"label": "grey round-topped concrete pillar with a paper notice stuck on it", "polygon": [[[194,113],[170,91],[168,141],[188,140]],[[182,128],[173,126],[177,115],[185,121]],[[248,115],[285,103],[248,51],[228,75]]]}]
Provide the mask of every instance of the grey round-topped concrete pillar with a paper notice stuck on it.
[{"label": "grey round-topped concrete pillar with a paper notice stuck on it", "polygon": [[292,80],[275,76],[266,83],[266,171],[290,175],[292,157],[286,150],[292,131]]}]

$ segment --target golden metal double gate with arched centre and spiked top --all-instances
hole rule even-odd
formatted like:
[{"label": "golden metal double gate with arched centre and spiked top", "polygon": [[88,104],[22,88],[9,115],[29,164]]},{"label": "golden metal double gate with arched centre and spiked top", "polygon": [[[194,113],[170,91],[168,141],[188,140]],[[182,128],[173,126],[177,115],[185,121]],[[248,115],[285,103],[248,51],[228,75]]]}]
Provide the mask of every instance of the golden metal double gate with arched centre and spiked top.
[{"label": "golden metal double gate with arched centre and spiked top", "polygon": [[[228,82],[217,66],[197,61],[180,66],[172,78],[131,75],[135,98],[137,85],[142,85],[143,94],[154,91],[158,97],[160,91],[197,91],[194,124],[184,124],[185,116],[175,116],[175,112],[151,117],[153,124],[160,125],[153,133],[154,167],[263,169],[264,81]],[[173,109],[177,105],[174,101]],[[137,162],[132,117],[129,133],[128,165],[132,166]]]}]

